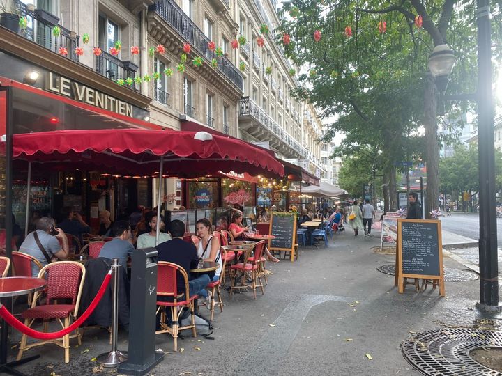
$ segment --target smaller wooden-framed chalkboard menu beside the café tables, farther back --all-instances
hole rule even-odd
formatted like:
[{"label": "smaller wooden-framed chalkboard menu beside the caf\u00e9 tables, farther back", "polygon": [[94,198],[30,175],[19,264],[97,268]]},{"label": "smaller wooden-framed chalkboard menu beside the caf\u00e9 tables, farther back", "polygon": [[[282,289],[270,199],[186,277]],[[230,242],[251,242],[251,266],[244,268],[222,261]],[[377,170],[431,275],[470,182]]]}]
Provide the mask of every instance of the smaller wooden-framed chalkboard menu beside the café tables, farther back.
[{"label": "smaller wooden-framed chalkboard menu beside the caf\u00e9 tables, farther back", "polygon": [[268,250],[289,251],[292,263],[296,236],[296,214],[273,212],[269,233],[274,235],[275,239],[268,240]]}]

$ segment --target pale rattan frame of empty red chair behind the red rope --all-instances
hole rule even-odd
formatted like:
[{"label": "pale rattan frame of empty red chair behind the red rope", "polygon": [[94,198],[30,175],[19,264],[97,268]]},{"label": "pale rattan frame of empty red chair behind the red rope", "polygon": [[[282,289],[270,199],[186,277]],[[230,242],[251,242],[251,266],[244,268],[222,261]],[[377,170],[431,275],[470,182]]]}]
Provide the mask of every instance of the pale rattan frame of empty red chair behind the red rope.
[{"label": "pale rattan frame of empty red chair behind the red rope", "polygon": [[[81,263],[77,263],[76,261],[58,261],[56,263],[50,263],[48,265],[45,265],[42,269],[40,269],[40,272],[38,272],[38,278],[44,278],[45,276],[45,271],[47,269],[50,269],[50,267],[54,266],[54,264],[72,264],[76,265],[77,267],[80,268],[82,272],[82,276],[80,276],[80,282],[79,282],[79,288],[77,292],[77,300],[75,301],[75,309],[73,310],[73,313],[70,313],[68,317],[64,318],[64,322],[61,321],[60,318],[56,318],[56,320],[61,324],[61,327],[64,329],[66,327],[70,326],[70,318],[73,317],[75,319],[77,317],[78,313],[78,308],[80,304],[80,297],[82,296],[82,288],[84,287],[84,281],[85,281],[85,275],[86,275],[86,269],[84,265]],[[36,307],[36,301],[38,299],[38,295],[40,295],[40,292],[35,292],[35,295],[33,295],[33,301],[31,301],[31,308]],[[26,327],[31,327],[33,322],[35,322],[36,318],[26,318],[24,319],[24,324]],[[43,322],[43,331],[47,332],[47,329],[49,327],[49,320],[44,320]],[[22,335],[21,338],[21,344],[20,344],[20,350],[17,353],[17,360],[20,360],[22,357],[22,354],[24,351],[31,349],[31,347],[36,347],[40,345],[45,345],[46,343],[54,343],[54,345],[58,345],[59,347],[63,347],[65,351],[65,363],[70,362],[70,338],[75,338],[77,337],[78,344],[82,345],[82,334],[80,334],[79,329],[77,328],[75,330],[75,334],[70,335],[69,333],[63,336],[62,340],[60,339],[54,339],[54,340],[40,340],[38,342],[30,343],[29,345],[26,344],[27,336],[26,334]]]}]

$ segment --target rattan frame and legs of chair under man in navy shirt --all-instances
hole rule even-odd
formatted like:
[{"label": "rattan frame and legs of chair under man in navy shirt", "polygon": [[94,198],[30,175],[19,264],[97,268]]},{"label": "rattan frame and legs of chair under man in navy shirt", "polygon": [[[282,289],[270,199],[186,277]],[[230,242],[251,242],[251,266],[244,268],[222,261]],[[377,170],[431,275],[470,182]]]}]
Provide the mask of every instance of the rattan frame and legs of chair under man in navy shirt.
[{"label": "rattan frame and legs of chair under man in navy shirt", "polygon": [[[178,334],[180,331],[185,330],[185,329],[192,329],[192,335],[194,337],[197,337],[197,331],[195,329],[195,304],[194,301],[197,301],[197,298],[194,300],[190,300],[190,288],[188,286],[188,274],[185,272],[185,269],[183,267],[179,266],[178,264],[175,263],[169,263],[167,261],[159,261],[158,266],[160,267],[161,265],[166,265],[170,267],[176,268],[176,272],[180,272],[181,275],[183,276],[183,279],[185,280],[185,294],[180,294],[180,295],[172,295],[172,294],[166,294],[163,292],[157,292],[158,296],[164,296],[164,297],[172,297],[173,303],[172,304],[162,304],[162,301],[157,301],[157,311],[156,313],[158,314],[160,311],[160,308],[162,306],[169,306],[171,308],[171,318],[173,320],[172,327],[169,327],[169,325],[166,323],[166,314],[165,311],[162,311],[160,313],[160,330],[155,331],[155,334],[162,334],[162,333],[169,333],[171,334],[173,340],[174,340],[174,351],[178,351]],[[176,275],[174,276],[176,278]],[[187,301],[187,304],[183,306],[178,306],[176,305],[178,302],[178,299],[181,297],[185,296],[185,300]],[[179,318],[181,313],[183,312],[183,309],[178,309],[178,308],[183,308],[183,307],[188,307],[190,308],[190,315],[191,315],[191,323],[190,325],[186,325],[185,327],[180,327],[179,326]]]}]

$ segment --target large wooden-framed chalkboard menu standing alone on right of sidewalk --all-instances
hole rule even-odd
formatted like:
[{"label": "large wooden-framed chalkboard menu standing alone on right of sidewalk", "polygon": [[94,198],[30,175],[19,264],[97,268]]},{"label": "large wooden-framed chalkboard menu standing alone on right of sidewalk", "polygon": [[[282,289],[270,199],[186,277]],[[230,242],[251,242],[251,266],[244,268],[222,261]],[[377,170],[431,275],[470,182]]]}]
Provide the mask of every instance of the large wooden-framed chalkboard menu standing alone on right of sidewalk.
[{"label": "large wooden-framed chalkboard menu standing alone on right of sidewalk", "polygon": [[404,279],[437,280],[439,294],[445,295],[441,221],[399,219],[397,221],[397,286],[404,292]]}]

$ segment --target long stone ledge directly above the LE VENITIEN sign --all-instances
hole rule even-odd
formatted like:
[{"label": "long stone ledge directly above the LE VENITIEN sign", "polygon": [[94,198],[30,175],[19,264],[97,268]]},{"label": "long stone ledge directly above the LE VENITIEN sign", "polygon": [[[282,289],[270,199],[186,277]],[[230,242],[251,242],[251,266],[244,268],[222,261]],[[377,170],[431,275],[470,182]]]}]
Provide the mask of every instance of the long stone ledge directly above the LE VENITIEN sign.
[{"label": "long stone ledge directly above the LE VENITIEN sign", "polygon": [[40,65],[61,76],[73,79],[81,84],[112,95],[130,104],[134,104],[142,109],[146,109],[151,102],[150,97],[146,97],[130,88],[119,86],[114,83],[114,81],[103,77],[86,65],[75,63],[75,61],[71,61],[69,58],[56,54],[1,26],[0,40],[0,48],[4,52],[18,56],[33,64]]}]

